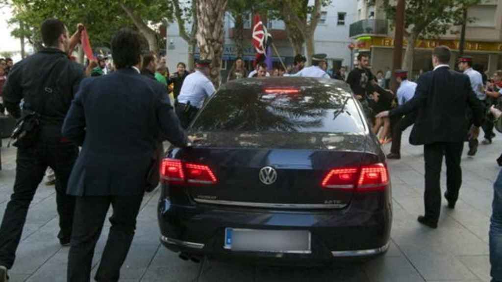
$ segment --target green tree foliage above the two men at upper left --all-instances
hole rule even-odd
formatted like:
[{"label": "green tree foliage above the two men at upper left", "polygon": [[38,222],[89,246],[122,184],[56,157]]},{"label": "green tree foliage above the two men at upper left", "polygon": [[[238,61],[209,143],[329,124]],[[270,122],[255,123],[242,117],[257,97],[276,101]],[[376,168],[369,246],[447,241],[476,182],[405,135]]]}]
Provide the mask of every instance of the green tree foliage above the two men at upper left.
[{"label": "green tree foliage above the two men at upper left", "polygon": [[[120,8],[123,2],[152,26],[158,26],[166,19],[172,19],[171,9],[165,0],[0,0],[13,8],[14,24],[12,35],[24,36],[31,44],[40,44],[40,24],[48,18],[63,21],[70,35],[75,32],[77,23],[83,23],[89,33],[93,47],[110,47],[112,35],[123,27],[134,28],[132,20]],[[24,28],[19,28],[19,23]]]}]

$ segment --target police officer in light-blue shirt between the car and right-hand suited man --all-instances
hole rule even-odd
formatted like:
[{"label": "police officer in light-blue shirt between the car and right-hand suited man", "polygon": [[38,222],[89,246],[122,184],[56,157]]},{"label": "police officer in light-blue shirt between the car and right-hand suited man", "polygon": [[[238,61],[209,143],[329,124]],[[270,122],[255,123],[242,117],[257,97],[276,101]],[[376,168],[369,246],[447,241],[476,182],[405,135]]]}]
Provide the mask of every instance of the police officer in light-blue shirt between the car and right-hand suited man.
[{"label": "police officer in light-blue shirt between the car and right-hand suited man", "polygon": [[[413,98],[417,84],[408,80],[408,71],[396,70],[396,80],[399,83],[397,92],[398,104],[403,105]],[[415,123],[416,112],[392,119],[392,147],[387,159],[401,159],[401,135],[406,128]]]}]

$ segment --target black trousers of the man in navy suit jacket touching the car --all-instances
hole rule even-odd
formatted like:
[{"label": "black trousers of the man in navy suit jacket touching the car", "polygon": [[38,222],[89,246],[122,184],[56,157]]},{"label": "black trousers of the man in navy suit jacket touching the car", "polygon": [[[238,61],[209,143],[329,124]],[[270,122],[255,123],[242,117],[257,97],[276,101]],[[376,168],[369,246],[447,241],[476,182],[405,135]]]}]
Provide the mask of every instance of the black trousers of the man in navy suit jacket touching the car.
[{"label": "black trousers of the man in navy suit jacket touching the car", "polygon": [[68,281],[89,282],[94,247],[103,229],[111,204],[113,215],[108,240],[104,247],[96,281],[118,281],[120,267],[126,260],[136,230],[136,217],[142,195],[76,197],[71,247],[68,254]]}]

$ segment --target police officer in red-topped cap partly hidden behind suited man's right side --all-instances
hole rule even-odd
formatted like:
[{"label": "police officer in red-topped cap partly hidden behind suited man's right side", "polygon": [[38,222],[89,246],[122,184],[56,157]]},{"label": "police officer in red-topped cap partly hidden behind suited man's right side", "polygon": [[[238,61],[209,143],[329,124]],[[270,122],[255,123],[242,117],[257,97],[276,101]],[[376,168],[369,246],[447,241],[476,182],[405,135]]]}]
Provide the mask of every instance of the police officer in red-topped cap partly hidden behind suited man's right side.
[{"label": "police officer in red-topped cap partly hidden behind suited man's right side", "polygon": [[[463,71],[465,75],[469,77],[471,82],[472,91],[476,94],[476,98],[481,101],[481,104],[486,107],[486,93],[484,92],[483,78],[478,71],[475,71],[472,68],[472,57],[471,56],[462,56],[458,60],[458,69]],[[469,126],[472,125],[472,117],[469,118]],[[491,143],[491,133],[485,132],[485,134],[490,134],[490,136],[486,136]],[[469,151],[467,152],[468,156],[474,156],[477,152],[478,146],[477,136],[471,136],[469,138]]]}]

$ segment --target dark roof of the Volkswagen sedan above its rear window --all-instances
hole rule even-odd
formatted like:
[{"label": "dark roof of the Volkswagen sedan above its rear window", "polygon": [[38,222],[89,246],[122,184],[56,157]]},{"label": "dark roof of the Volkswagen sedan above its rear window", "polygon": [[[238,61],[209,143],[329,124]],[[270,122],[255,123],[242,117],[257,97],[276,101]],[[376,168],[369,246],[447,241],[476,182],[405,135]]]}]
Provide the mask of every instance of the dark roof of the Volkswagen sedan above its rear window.
[{"label": "dark roof of the Volkswagen sedan above its rear window", "polygon": [[343,88],[350,92],[348,84],[342,80],[315,78],[315,77],[265,77],[265,78],[245,78],[229,81],[221,85],[221,90],[232,90],[241,88],[277,88],[277,87],[313,87]]}]

